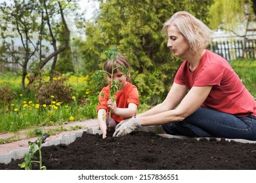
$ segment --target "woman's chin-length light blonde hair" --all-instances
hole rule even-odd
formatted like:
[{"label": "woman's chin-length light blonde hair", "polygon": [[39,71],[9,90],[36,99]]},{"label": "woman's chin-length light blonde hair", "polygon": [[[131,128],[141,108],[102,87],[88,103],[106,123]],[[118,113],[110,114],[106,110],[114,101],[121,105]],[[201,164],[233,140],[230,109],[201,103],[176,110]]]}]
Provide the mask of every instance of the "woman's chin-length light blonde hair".
[{"label": "woman's chin-length light blonde hair", "polygon": [[190,44],[190,51],[197,52],[211,44],[211,29],[186,11],[176,12],[163,24],[163,33],[167,35],[169,26],[175,25]]}]

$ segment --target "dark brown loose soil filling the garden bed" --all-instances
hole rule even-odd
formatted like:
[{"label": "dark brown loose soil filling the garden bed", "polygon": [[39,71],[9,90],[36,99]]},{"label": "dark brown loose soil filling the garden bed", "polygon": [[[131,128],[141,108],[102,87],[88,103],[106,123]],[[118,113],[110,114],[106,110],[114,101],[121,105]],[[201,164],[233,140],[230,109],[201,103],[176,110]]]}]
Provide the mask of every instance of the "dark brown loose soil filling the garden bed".
[{"label": "dark brown loose soil filling the garden bed", "polygon": [[[42,154],[43,165],[49,170],[256,169],[256,144],[166,139],[144,131],[106,139],[83,133],[72,144],[43,147]],[[18,163],[23,161],[0,164],[0,169],[21,169]]]}]

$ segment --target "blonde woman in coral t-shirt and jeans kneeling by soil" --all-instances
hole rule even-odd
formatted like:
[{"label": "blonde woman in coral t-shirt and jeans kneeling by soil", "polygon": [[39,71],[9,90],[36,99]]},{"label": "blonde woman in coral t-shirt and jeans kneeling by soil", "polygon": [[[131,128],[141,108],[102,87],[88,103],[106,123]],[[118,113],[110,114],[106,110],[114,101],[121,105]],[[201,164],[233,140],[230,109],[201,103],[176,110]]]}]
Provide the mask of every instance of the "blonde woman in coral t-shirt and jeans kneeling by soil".
[{"label": "blonde woman in coral t-shirt and jeans kneeling by soil", "polygon": [[206,50],[210,29],[188,12],[163,25],[167,46],[184,59],[167,97],[154,108],[116,126],[119,137],[144,125],[171,135],[256,140],[256,101],[229,63]]}]

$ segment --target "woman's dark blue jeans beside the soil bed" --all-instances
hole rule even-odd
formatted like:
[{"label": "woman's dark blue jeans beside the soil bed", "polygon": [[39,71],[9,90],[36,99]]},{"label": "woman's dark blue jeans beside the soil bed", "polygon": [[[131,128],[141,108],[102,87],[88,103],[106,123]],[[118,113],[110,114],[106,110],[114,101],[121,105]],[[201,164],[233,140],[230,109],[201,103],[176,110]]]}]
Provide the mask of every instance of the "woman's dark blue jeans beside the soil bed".
[{"label": "woman's dark blue jeans beside the soil bed", "polygon": [[189,137],[219,137],[256,141],[256,117],[238,118],[232,114],[200,107],[182,122],[162,125],[171,135]]}]

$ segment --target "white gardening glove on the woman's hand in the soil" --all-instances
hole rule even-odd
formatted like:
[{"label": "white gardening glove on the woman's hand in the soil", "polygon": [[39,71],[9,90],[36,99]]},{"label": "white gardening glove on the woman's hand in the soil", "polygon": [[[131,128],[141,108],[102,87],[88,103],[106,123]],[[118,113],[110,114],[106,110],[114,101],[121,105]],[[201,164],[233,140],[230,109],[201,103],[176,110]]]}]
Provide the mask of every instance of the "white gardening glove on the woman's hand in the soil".
[{"label": "white gardening glove on the woman's hand in the soil", "polygon": [[132,131],[135,131],[139,127],[142,127],[142,125],[138,122],[136,116],[134,116],[130,118],[127,122],[123,122],[123,124],[119,125],[119,127],[116,127],[116,131],[113,134],[113,137],[121,137],[128,133],[131,133]]}]

